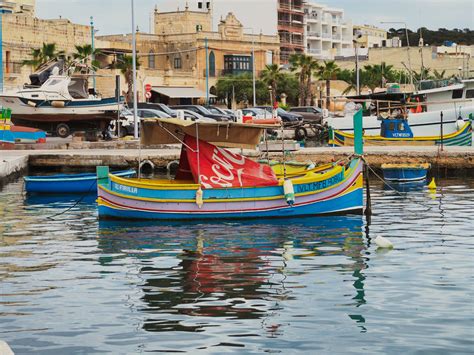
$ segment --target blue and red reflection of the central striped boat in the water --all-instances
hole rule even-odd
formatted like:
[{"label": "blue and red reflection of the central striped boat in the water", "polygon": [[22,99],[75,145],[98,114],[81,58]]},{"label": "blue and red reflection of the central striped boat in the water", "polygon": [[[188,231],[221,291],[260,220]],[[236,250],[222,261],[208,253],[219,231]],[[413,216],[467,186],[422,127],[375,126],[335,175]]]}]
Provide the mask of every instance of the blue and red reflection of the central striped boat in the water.
[{"label": "blue and red reflection of the central striped boat in the water", "polygon": [[[361,216],[215,224],[99,221],[98,247],[103,266],[134,259],[142,282],[133,307],[143,313],[147,331],[204,331],[216,326],[212,318],[225,317],[261,319],[275,335],[279,322],[272,318],[299,298],[295,292],[316,297],[315,278],[328,271],[344,283],[335,302],[351,308],[366,302],[362,228]],[[354,279],[351,295],[342,291],[348,274]],[[364,321],[360,314],[348,316]]]}]

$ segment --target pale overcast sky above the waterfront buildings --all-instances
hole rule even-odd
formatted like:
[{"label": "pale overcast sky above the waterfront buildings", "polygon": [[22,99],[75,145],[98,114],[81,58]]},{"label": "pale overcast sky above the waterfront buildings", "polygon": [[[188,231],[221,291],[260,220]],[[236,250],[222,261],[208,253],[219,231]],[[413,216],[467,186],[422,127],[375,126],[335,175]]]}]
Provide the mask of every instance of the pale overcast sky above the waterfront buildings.
[{"label": "pale overcast sky above the waterfront buildings", "polygon": [[[184,8],[185,0],[134,0],[136,24],[140,31],[150,30],[151,14],[155,6],[159,11]],[[245,27],[255,33],[276,32],[277,0],[214,0],[214,26],[219,18],[232,11]],[[345,10],[347,19],[354,24],[370,24],[383,28],[404,25],[381,24],[382,21],[406,22],[408,28],[421,26],[429,29],[441,27],[474,28],[473,0],[328,0],[316,1]],[[198,0],[188,0],[192,10]],[[131,0],[36,0],[39,18],[68,18],[74,23],[88,24],[94,16],[97,35],[130,33]],[[250,32],[250,30],[248,30]]]}]

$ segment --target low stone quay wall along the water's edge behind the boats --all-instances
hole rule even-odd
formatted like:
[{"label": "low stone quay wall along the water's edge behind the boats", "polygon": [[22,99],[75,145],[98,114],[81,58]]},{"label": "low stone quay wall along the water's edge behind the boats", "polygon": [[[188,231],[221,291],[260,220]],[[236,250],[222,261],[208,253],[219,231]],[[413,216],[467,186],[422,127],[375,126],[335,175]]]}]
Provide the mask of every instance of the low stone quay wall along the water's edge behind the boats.
[{"label": "low stone quay wall along the water's edge behind the boats", "polygon": [[[383,163],[419,163],[429,162],[443,169],[474,169],[474,147],[365,147],[368,163],[377,168]],[[352,147],[302,148],[292,152],[288,160],[312,161],[316,164],[350,156]],[[258,158],[257,151],[244,150],[246,156]],[[178,160],[179,146],[162,149],[49,149],[49,150],[13,150],[0,151],[0,179],[20,174],[28,167],[35,168],[84,168],[92,169],[97,165],[113,167],[137,166],[141,160],[153,162],[155,167],[166,167]],[[280,153],[270,153],[271,158],[279,159]]]}]

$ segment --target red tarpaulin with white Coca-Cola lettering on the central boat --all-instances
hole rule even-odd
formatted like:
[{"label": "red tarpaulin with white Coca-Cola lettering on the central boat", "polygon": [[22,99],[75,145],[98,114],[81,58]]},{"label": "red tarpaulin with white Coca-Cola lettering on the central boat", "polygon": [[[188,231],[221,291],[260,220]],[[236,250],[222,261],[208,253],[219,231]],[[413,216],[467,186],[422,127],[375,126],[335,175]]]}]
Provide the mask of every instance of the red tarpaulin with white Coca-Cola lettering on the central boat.
[{"label": "red tarpaulin with white Coca-Cola lettering on the central boat", "polygon": [[[205,189],[242,186],[271,186],[278,184],[272,168],[235,154],[227,149],[199,140],[199,163],[196,138],[185,136],[176,179],[190,178],[196,183],[201,174],[201,185]],[[194,152],[193,152],[194,151]],[[199,171],[199,172],[198,172]]]}]

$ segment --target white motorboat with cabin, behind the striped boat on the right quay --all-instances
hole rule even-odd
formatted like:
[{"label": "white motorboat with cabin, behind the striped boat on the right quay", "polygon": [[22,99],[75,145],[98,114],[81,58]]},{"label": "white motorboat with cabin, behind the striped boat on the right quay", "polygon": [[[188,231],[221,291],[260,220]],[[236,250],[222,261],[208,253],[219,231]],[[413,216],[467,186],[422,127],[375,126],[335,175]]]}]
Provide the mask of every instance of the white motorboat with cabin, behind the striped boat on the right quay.
[{"label": "white motorboat with cabin, behind the striped boat on the right quay", "polygon": [[[378,110],[379,114],[375,112],[370,116],[364,116],[365,134],[379,135],[380,116],[390,115],[392,110],[398,110],[396,114],[400,114],[400,110],[404,107],[409,107],[407,119],[415,136],[440,136],[441,133],[443,135],[454,133],[459,129],[460,124],[463,124],[461,120],[467,121],[469,115],[474,115],[474,79],[421,90],[407,96],[410,96],[413,101],[403,104],[398,102],[392,108],[387,106],[387,101],[382,101]],[[375,102],[372,99],[367,101]],[[342,117],[327,117],[324,120],[334,129],[352,133],[352,116],[353,112],[348,110]],[[443,122],[443,132],[441,132],[441,122]]]}]

